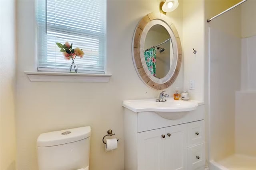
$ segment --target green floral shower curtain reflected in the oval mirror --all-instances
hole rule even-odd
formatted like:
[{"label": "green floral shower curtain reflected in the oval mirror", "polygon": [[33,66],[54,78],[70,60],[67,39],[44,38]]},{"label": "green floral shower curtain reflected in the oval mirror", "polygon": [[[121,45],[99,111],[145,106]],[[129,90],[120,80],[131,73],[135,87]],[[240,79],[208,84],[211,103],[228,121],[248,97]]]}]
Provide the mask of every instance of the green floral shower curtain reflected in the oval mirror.
[{"label": "green floral shower curtain reflected in the oval mirror", "polygon": [[145,61],[148,66],[148,70],[156,76],[156,49],[151,48],[144,52]]}]

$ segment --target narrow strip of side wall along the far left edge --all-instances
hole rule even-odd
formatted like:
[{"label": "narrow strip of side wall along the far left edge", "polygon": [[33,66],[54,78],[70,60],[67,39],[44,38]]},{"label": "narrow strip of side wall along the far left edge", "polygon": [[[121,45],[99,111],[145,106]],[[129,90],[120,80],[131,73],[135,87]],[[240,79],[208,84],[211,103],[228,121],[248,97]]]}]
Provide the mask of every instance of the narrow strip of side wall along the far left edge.
[{"label": "narrow strip of side wall along the far left edge", "polygon": [[15,1],[0,1],[0,169],[15,170]]}]

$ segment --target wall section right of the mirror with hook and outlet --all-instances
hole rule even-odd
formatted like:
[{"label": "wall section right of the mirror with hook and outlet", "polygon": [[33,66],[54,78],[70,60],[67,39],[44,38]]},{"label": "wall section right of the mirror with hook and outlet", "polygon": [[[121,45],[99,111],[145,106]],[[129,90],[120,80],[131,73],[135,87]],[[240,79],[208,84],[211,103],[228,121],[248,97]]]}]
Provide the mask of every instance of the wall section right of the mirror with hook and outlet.
[{"label": "wall section right of the mirror with hook and outlet", "polygon": [[[184,90],[192,99],[204,100],[204,0],[184,0],[183,6]],[[189,90],[190,80],[194,90]]]}]

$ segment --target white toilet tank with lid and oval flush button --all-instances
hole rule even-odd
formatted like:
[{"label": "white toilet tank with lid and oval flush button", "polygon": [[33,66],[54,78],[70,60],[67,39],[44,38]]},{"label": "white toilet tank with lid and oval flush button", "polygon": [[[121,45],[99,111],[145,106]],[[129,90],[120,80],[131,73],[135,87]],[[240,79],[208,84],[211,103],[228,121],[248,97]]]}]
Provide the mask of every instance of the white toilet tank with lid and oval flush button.
[{"label": "white toilet tank with lid and oval flush button", "polygon": [[89,169],[90,133],[86,126],[39,135],[39,170]]}]

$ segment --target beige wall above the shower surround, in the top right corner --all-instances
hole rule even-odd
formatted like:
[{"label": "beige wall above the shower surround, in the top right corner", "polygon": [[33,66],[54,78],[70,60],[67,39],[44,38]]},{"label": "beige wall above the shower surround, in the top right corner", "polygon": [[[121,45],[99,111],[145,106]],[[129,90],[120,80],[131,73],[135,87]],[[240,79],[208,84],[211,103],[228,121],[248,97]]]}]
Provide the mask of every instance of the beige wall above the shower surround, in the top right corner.
[{"label": "beige wall above the shower surround, in the top right corner", "polygon": [[256,35],[256,0],[242,4],[242,38]]}]

